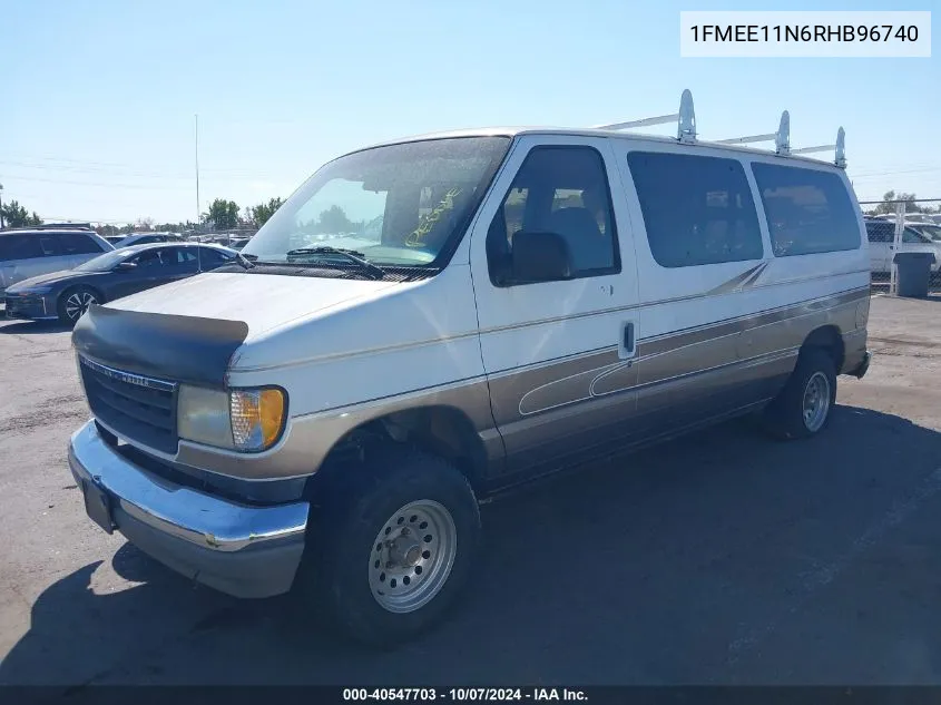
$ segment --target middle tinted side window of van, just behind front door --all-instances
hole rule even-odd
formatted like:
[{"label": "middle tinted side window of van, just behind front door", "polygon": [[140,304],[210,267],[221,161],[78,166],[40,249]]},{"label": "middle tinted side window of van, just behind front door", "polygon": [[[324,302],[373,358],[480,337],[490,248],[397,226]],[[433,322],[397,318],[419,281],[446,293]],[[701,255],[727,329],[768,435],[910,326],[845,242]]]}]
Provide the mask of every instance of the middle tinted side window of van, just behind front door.
[{"label": "middle tinted side window of van, just behind front door", "polygon": [[761,260],[758,214],[735,159],[631,151],[647,241],[663,267]]}]

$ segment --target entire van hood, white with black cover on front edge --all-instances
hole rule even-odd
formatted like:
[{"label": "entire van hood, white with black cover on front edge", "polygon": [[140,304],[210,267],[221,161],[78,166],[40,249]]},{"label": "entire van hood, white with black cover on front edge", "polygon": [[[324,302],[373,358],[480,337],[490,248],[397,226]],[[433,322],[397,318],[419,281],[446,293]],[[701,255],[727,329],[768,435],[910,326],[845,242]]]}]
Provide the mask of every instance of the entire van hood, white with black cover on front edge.
[{"label": "entire van hood, white with black cover on front edge", "polygon": [[90,306],[72,344],[111,374],[224,386],[233,355],[253,337],[394,286],[401,284],[206,273]]}]

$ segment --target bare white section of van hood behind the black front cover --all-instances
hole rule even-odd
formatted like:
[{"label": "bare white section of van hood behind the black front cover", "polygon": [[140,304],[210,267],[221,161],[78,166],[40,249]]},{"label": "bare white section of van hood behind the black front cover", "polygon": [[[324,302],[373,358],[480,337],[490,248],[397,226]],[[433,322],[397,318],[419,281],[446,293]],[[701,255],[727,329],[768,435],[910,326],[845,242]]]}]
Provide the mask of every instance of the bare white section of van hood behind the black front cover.
[{"label": "bare white section of van hood behind the black front cover", "polygon": [[395,282],[220,272],[199,274],[109,304],[109,309],[241,321],[253,337],[339,304],[369,298]]}]

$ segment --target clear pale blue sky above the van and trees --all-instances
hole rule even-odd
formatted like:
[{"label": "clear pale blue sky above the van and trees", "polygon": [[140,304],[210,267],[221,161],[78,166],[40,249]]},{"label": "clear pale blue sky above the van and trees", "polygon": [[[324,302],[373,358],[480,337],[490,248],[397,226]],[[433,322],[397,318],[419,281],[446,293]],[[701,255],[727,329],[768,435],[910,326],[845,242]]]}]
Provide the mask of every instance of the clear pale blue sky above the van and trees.
[{"label": "clear pale blue sky above the van and trees", "polygon": [[930,59],[679,57],[683,9],[941,11],[893,4],[8,2],[2,197],[47,219],[194,218],[195,114],[205,209],[286,196],[384,138],[673,112],[690,88],[704,139],[774,131],[787,108],[794,147],[832,143],[843,125],[861,199],[941,198],[937,40]]}]

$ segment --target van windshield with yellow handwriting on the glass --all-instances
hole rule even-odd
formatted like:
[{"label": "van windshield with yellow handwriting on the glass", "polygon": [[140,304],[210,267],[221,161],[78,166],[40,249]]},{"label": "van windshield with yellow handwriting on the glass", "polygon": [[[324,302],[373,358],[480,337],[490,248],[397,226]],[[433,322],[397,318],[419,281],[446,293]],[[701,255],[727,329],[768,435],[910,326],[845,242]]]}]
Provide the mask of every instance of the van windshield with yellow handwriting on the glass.
[{"label": "van windshield with yellow handwriting on the glass", "polygon": [[318,247],[376,265],[431,266],[457,245],[510,139],[460,137],[374,147],[330,161],[242,254],[258,264],[320,262]]}]

